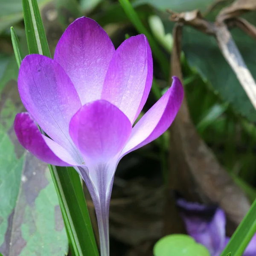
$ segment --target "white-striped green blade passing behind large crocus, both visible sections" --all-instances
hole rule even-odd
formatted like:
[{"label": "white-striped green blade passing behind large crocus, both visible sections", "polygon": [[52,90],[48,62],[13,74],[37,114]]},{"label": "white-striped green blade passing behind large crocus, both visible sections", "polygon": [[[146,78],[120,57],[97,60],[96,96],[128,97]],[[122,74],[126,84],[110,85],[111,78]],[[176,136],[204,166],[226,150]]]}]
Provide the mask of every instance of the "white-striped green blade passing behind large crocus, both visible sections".
[{"label": "white-striped green blade passing behind large crocus, both visible sections", "polygon": [[[23,15],[29,53],[51,57],[36,0],[23,0]],[[49,169],[72,251],[76,256],[99,256],[79,175],[72,168],[49,165]]]}]

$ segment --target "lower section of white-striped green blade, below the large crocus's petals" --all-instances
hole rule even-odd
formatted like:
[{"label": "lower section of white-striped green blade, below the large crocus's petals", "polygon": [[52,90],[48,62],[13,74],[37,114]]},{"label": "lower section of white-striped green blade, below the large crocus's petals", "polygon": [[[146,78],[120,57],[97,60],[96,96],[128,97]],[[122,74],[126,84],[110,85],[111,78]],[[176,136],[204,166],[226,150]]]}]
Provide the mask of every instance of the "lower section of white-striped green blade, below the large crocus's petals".
[{"label": "lower section of white-striped green blade, below the large crocus's petals", "polygon": [[75,255],[99,256],[79,174],[70,167],[49,169]]}]

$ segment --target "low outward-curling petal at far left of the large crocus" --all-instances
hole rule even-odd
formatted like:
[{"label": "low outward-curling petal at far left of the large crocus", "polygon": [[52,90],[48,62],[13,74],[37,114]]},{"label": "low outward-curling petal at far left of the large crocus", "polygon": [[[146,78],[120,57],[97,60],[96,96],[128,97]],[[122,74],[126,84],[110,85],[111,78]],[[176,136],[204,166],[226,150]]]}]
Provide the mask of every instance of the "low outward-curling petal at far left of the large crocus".
[{"label": "low outward-curling petal at far left of the large crocus", "polygon": [[40,133],[29,113],[16,115],[14,130],[20,144],[41,161],[56,166],[78,164],[64,148]]}]

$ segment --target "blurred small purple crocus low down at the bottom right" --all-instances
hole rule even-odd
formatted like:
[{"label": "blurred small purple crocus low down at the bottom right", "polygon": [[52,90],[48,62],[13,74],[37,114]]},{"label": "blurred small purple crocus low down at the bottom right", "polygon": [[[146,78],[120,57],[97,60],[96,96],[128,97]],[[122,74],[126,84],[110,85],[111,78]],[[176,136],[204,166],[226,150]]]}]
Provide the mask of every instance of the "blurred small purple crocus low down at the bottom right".
[{"label": "blurred small purple crocus low down at the bottom right", "polygon": [[[188,234],[207,247],[211,256],[219,256],[230,240],[226,236],[226,216],[223,209],[186,202],[183,199],[179,199],[177,204]],[[255,255],[256,235],[248,244],[243,256]]]}]

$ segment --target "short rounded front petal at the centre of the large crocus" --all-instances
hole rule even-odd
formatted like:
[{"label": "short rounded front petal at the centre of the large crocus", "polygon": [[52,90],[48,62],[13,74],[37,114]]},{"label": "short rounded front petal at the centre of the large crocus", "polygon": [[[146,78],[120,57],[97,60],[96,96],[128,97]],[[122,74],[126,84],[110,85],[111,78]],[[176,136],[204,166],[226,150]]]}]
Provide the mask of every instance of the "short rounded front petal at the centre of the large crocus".
[{"label": "short rounded front petal at the centre of the large crocus", "polygon": [[[107,163],[120,153],[131,134],[131,122],[116,106],[97,100],[82,106],[70,121],[70,136],[90,163]],[[89,169],[90,172],[90,169]]]}]

